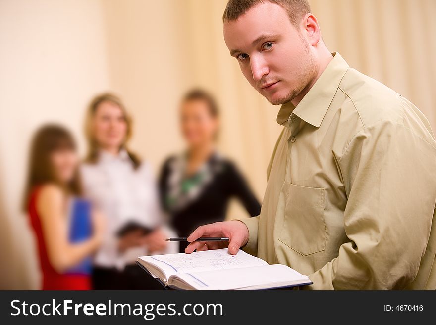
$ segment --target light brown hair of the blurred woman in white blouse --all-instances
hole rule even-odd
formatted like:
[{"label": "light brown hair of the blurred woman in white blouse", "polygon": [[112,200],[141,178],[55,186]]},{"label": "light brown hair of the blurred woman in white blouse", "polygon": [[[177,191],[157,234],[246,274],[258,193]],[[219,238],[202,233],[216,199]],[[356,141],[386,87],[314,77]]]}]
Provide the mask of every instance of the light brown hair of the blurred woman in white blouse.
[{"label": "light brown hair of the blurred woman in white blouse", "polygon": [[97,140],[95,139],[94,135],[94,128],[93,128],[93,119],[94,115],[97,111],[97,108],[99,105],[105,101],[109,101],[112,104],[115,104],[118,106],[121,111],[124,114],[124,119],[127,124],[127,132],[126,132],[126,138],[124,139],[124,142],[121,145],[121,148],[124,148],[127,151],[127,155],[133,162],[133,167],[137,169],[141,165],[141,160],[139,157],[131,152],[129,149],[127,149],[127,141],[132,136],[132,119],[130,118],[129,114],[127,113],[127,110],[121,101],[121,99],[114,95],[113,93],[103,93],[96,97],[94,97],[88,106],[88,111],[86,114],[86,120],[85,120],[85,135],[86,139],[88,141],[88,154],[85,158],[85,162],[95,164],[99,157],[99,144],[97,143]]}]

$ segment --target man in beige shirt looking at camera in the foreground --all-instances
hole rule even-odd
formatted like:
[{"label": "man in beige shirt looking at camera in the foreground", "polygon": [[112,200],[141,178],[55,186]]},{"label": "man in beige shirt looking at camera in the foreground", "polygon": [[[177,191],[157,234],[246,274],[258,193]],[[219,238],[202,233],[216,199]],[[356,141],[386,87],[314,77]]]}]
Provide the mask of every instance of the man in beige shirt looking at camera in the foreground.
[{"label": "man in beige shirt looking at camera in the foreground", "polygon": [[[239,247],[307,289],[436,287],[436,142],[406,98],[330,54],[306,0],[230,0],[224,39],[281,104],[260,216],[201,226],[186,252]],[[241,222],[242,221],[242,222]]]}]

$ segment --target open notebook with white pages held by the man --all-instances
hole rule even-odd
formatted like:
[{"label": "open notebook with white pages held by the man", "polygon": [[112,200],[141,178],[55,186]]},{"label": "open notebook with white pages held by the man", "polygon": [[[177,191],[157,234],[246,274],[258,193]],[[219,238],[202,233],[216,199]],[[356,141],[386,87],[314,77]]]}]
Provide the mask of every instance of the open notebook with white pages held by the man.
[{"label": "open notebook with white pages held by the man", "polygon": [[166,287],[180,290],[261,290],[312,284],[309,277],[282,264],[227,248],[138,257],[143,269]]}]

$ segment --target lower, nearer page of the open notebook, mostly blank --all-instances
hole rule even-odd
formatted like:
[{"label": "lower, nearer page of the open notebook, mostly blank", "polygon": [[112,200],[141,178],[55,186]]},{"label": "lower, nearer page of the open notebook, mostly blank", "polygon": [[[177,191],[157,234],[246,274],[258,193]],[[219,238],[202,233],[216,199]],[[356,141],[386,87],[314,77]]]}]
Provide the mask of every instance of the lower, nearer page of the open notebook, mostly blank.
[{"label": "lower, nearer page of the open notebook, mostly blank", "polygon": [[292,282],[310,282],[305,275],[282,264],[263,265],[232,270],[214,270],[178,274],[178,278],[192,284],[198,290],[231,290],[251,286],[276,287],[293,284]]}]

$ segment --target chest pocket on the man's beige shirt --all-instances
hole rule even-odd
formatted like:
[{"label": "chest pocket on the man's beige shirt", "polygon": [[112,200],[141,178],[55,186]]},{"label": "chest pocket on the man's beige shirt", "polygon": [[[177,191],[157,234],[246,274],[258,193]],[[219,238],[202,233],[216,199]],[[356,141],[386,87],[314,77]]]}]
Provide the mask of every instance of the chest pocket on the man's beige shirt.
[{"label": "chest pocket on the man's beige shirt", "polygon": [[326,249],[324,188],[287,183],[283,227],[279,240],[300,253],[310,255]]}]

